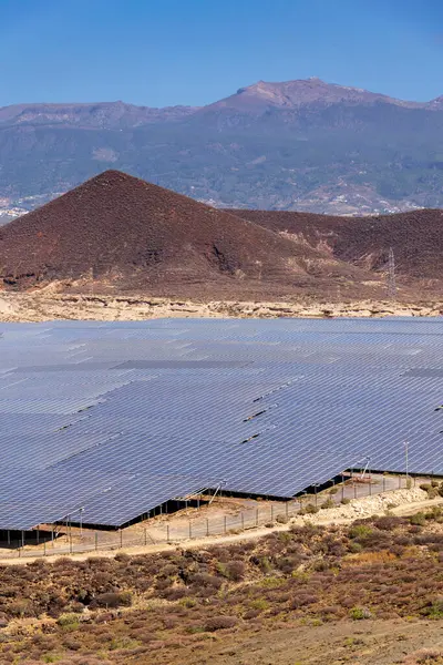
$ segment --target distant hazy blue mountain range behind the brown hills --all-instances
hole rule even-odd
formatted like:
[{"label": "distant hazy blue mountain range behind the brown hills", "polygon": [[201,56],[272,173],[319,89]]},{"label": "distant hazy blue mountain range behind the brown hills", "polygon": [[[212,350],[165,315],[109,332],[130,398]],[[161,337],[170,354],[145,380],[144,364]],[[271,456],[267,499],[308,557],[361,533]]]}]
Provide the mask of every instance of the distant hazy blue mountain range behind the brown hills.
[{"label": "distant hazy blue mountain range behind the brown hills", "polygon": [[259,81],[203,108],[0,109],[0,223],[106,167],[217,207],[443,207],[443,96],[408,102],[309,79]]}]

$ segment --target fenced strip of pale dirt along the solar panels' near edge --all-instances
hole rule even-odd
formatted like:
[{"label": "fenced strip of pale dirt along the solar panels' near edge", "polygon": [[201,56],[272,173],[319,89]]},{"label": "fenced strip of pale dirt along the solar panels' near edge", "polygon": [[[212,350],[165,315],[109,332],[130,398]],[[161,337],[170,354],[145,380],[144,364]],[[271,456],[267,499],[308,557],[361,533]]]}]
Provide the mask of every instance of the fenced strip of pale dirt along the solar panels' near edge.
[{"label": "fenced strip of pale dirt along the solar panels' near edge", "polygon": [[[418,487],[425,479],[404,475],[354,475],[346,482],[332,485],[321,492],[305,493],[291,501],[259,502],[236,514],[210,514],[187,519],[186,515],[162,515],[145,524],[135,524],[121,531],[92,531],[70,524],[63,528],[40,529],[21,533],[19,538],[8,538],[0,543],[0,560],[34,556],[63,556],[74,553],[123,550],[125,548],[147,548],[148,545],[179,544],[208,536],[239,534],[260,526],[285,524],[297,514],[315,513],[323,508],[347,503],[351,499],[363,499],[381,492]],[[214,507],[216,508],[216,503]],[[206,510],[206,509],[203,509]],[[222,511],[217,511],[222,513]],[[147,525],[146,525],[147,524]]]}]

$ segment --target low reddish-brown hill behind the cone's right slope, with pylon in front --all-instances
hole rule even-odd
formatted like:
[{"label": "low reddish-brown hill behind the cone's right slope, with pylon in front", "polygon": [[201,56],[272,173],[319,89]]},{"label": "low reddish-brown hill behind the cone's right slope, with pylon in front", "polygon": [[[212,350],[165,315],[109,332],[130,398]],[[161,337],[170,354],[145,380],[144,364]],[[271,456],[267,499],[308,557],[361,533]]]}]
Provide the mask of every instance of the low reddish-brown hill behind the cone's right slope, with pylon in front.
[{"label": "low reddish-brown hill behind the cone's right slope, with pylon in front", "polygon": [[337,259],[384,270],[390,247],[396,270],[411,278],[443,277],[443,211],[421,209],[380,217],[333,217],[310,213],[231,211],[277,233],[288,233]]}]

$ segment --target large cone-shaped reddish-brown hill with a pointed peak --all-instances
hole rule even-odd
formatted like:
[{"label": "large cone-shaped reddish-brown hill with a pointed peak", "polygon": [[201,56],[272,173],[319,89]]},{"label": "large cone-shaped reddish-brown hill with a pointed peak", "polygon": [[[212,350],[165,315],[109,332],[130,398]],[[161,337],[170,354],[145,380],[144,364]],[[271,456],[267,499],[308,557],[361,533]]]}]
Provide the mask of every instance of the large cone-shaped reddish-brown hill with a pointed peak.
[{"label": "large cone-shaped reddish-brown hill with a pointed peak", "polygon": [[8,286],[70,280],[158,295],[290,291],[363,272],[258,224],[107,171],[0,231]]}]

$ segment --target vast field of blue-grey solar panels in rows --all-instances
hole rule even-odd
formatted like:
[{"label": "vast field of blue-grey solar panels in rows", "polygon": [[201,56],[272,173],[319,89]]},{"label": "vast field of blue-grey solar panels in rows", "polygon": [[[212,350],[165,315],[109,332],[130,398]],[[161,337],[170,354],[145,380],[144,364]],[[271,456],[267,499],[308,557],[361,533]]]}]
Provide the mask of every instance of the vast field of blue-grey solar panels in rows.
[{"label": "vast field of blue-grey solar panels in rows", "polygon": [[443,473],[443,319],[0,325],[0,529]]}]

